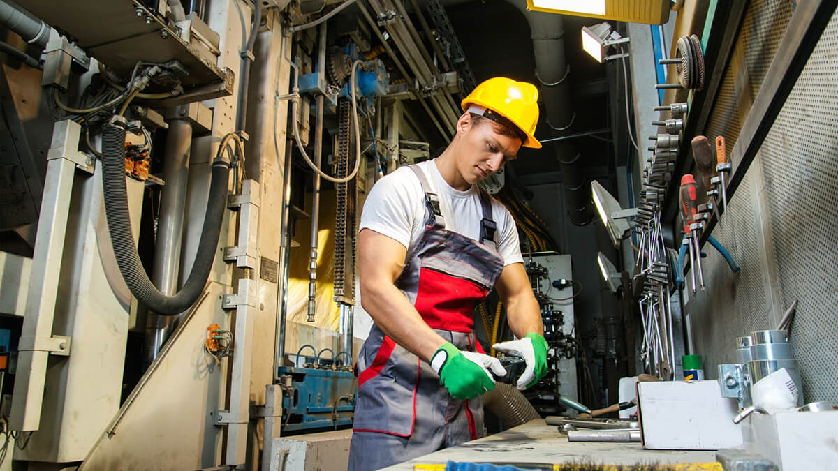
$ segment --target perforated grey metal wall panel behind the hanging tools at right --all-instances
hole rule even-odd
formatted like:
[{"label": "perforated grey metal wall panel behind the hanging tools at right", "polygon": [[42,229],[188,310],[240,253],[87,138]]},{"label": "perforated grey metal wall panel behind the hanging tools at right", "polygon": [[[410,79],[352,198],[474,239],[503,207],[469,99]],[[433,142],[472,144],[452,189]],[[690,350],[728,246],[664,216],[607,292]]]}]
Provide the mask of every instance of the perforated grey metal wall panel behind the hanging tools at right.
[{"label": "perforated grey metal wall panel behind the hanging tools at right", "polygon": [[[750,8],[763,11],[749,11],[746,21],[778,28],[780,23],[788,23],[786,13],[780,14],[784,5],[789,3],[753,3]],[[787,13],[790,18],[790,8]],[[746,26],[742,32],[751,28]],[[765,33],[765,49],[776,50],[783,31]],[[747,53],[746,48],[745,56],[765,52],[753,49]],[[731,104],[747,103],[750,108],[758,87],[744,87],[742,79],[747,76],[761,84],[773,57],[770,52],[761,60],[731,62],[747,72],[727,71],[706,134],[724,133],[728,152],[745,116],[739,113],[742,117],[738,117]],[[760,71],[762,76],[756,77]],[[692,298],[687,312],[696,353],[705,356],[708,377],[716,377],[718,363],[733,360],[735,337],[773,328],[784,309],[799,299],[791,342],[801,365],[805,400],[838,403],[834,379],[838,363],[836,194],[838,16],[833,16],[733,195],[729,213],[713,230],[712,235],[732,252],[742,272],[733,275],[714,249],[704,247],[709,291]]]}]

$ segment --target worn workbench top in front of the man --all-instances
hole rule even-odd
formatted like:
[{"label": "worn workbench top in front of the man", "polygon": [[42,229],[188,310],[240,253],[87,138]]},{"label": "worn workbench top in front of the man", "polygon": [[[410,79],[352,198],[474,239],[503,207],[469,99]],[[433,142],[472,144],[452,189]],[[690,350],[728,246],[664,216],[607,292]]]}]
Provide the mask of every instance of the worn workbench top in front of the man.
[{"label": "worn workbench top in front of the man", "polygon": [[715,451],[644,450],[640,443],[568,442],[567,436],[544,419],[535,419],[489,437],[446,448],[389,468],[412,470],[416,464],[471,463],[712,463]]}]

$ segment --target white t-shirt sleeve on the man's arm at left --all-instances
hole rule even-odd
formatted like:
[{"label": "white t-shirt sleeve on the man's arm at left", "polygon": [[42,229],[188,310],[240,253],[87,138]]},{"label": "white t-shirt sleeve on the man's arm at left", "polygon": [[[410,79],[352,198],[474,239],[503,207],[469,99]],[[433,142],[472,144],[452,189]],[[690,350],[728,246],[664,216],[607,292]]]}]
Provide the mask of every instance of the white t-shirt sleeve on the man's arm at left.
[{"label": "white t-shirt sleeve on the man's arm at left", "polygon": [[410,168],[399,168],[375,182],[361,211],[359,231],[375,230],[411,246],[417,210],[422,209],[422,186]]}]

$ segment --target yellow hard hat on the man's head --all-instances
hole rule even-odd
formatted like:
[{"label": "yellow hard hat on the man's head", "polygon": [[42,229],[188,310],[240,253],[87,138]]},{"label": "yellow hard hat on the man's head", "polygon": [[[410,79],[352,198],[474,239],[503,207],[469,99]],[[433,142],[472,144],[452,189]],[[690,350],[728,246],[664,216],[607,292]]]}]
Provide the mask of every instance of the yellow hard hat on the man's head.
[{"label": "yellow hard hat on the man's head", "polygon": [[474,105],[479,107],[477,110],[487,111],[487,114],[478,114],[494,119],[491,116],[494,111],[524,132],[526,139],[522,145],[525,148],[541,148],[541,142],[533,136],[535,125],[538,124],[538,90],[535,85],[506,77],[493,77],[474,87],[460,103],[463,111],[469,111],[469,108],[475,110]]}]

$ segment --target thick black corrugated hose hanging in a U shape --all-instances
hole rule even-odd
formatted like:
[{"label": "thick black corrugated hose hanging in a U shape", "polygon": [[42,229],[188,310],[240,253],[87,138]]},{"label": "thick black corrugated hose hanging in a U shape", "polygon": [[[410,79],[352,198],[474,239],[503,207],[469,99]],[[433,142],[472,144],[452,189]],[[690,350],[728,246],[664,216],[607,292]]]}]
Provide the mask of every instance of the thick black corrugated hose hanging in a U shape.
[{"label": "thick black corrugated hose hanging in a U shape", "polygon": [[[154,287],[142,267],[137,245],[131,231],[131,215],[128,213],[127,188],[125,183],[125,130],[116,125],[102,129],[102,185],[105,196],[105,215],[111,233],[116,263],[122,278],[137,300],[160,315],[169,316],[187,310],[200,296],[209,278],[209,271],[215,260],[216,247],[221,231],[221,219],[227,205],[227,183],[230,178],[230,163],[216,158],[212,168],[212,182],[209,185],[204,227],[198,243],[198,251],[192,271],[184,287],[173,296],[166,296]],[[220,153],[227,139],[221,142]]]}]

